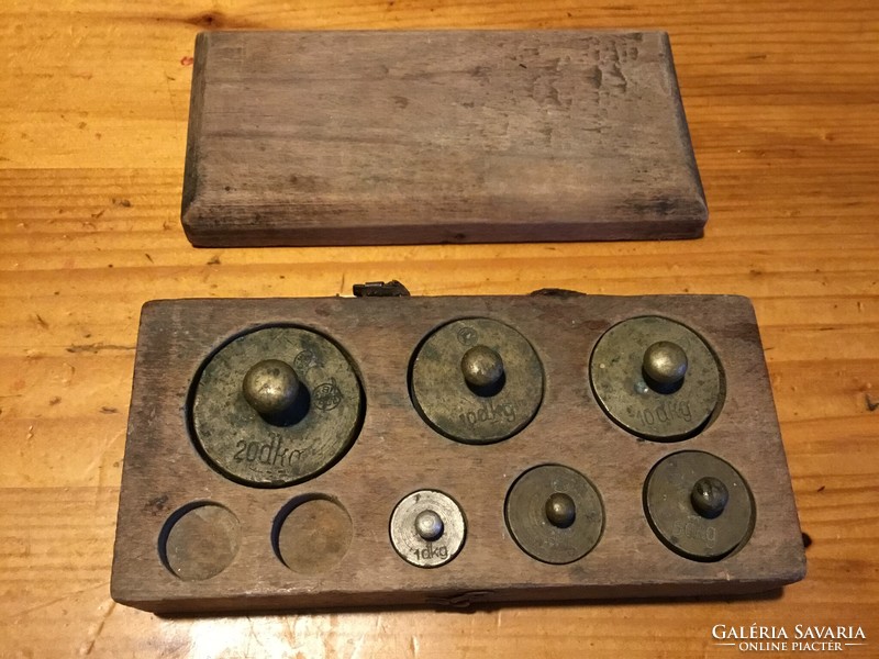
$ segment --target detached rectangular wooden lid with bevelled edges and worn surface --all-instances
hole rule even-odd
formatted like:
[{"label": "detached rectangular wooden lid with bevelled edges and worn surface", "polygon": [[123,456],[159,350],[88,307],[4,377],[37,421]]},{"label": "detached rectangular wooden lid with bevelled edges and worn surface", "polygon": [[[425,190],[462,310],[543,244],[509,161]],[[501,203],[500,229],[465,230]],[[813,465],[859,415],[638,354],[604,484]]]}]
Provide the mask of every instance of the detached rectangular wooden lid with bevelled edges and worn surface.
[{"label": "detached rectangular wooden lid with bevelled edges and worn surface", "polygon": [[194,59],[194,245],[702,235],[665,33],[213,32]]}]

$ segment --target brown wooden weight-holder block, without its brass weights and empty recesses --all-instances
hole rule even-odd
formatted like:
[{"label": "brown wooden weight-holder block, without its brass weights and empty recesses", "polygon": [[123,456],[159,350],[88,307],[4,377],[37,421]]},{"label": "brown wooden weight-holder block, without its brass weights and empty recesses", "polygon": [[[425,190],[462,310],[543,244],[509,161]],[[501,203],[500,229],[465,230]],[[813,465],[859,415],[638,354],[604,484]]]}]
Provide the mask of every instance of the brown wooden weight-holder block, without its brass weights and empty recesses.
[{"label": "brown wooden weight-holder block, without its brass weights and empty recesses", "polygon": [[[583,382],[604,331],[652,314],[699,332],[723,367],[722,411],[683,442],[645,442],[628,434],[608,418]],[[454,319],[482,316],[510,324],[532,342],[546,389],[537,417],[521,433],[472,446],[443,437],[415,413],[407,370],[430,332]],[[361,373],[367,412],[354,447],[324,473],[291,487],[248,487],[207,462],[193,445],[189,413],[181,410],[213,350],[245,330],[285,322],[343,346]],[[720,561],[674,554],[647,524],[641,496],[647,473],[680,450],[722,457],[753,493],[754,532]],[[604,504],[598,546],[569,565],[525,555],[503,521],[512,483],[544,463],[586,474]],[[388,537],[397,502],[425,488],[458,501],[468,526],[461,554],[430,570],[402,561]],[[294,573],[272,549],[272,528],[289,502],[314,495],[345,509],[353,540],[337,565],[316,574]],[[165,567],[160,547],[177,512],[194,502],[231,511],[240,521],[241,540],[223,571],[185,581]],[[201,551],[209,552],[207,545]],[[111,588],[119,602],[157,612],[203,612],[742,594],[797,581],[804,569],[759,334],[744,298],[185,300],[144,309],[113,560]]]}]

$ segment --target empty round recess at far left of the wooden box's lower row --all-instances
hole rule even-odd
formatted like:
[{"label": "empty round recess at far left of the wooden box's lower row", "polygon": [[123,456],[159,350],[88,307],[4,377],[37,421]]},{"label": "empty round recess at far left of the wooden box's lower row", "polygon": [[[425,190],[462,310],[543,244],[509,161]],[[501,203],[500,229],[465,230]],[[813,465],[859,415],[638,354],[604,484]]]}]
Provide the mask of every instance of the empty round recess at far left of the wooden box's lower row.
[{"label": "empty round recess at far left of the wooden box's lower row", "polygon": [[165,567],[183,581],[202,581],[225,570],[241,546],[238,518],[215,503],[187,505],[165,523],[159,543]]}]

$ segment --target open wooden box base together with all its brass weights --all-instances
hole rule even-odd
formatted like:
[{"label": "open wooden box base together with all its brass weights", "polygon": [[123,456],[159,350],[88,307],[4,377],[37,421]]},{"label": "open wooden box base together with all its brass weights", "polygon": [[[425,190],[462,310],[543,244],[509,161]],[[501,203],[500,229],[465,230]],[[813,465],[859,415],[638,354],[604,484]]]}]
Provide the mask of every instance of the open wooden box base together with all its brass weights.
[{"label": "open wooden box base together with all its brass weights", "polygon": [[804,570],[745,298],[144,306],[121,603],[727,595]]}]

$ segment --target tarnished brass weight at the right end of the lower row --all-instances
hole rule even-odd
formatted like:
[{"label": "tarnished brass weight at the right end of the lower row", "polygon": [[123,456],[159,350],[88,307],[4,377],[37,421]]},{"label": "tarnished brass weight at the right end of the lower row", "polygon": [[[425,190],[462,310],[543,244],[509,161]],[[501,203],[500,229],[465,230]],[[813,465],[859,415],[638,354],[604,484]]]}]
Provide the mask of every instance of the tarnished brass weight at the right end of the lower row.
[{"label": "tarnished brass weight at the right end of the lower row", "polygon": [[724,460],[699,450],[672,454],[644,484],[650,527],[672,551],[720,560],[747,541],[754,526],[750,491]]}]

